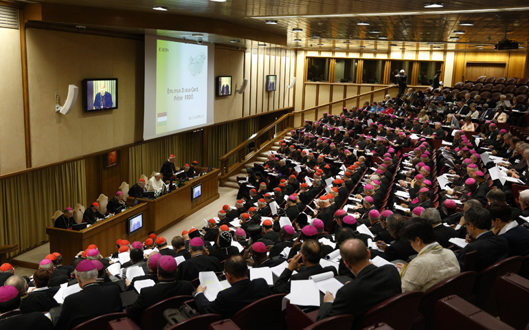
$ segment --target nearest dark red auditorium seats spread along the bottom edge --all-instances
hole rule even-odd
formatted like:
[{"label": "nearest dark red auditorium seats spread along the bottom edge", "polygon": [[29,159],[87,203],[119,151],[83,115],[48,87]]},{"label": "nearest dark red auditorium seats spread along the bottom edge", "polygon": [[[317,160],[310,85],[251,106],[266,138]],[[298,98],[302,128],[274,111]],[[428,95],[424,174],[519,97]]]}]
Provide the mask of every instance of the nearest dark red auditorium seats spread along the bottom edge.
[{"label": "nearest dark red auditorium seats spread along the bottom edge", "polygon": [[[361,329],[525,329],[529,322],[528,278],[529,256],[513,256],[479,273],[451,276],[425,293],[405,292],[388,298],[368,310],[359,322]],[[288,302],[286,309],[282,309],[284,296],[275,294],[257,300],[238,311],[231,320],[205,314],[169,329],[315,330],[349,329],[352,324],[352,316],[315,322],[317,309],[306,313]],[[122,322],[119,329],[161,330],[167,323],[164,311],[181,305],[194,308],[192,296],[168,298],[149,307],[139,325],[128,319],[127,314],[115,313],[89,320],[74,330],[104,329],[109,322]],[[385,325],[380,325],[381,322]]]}]

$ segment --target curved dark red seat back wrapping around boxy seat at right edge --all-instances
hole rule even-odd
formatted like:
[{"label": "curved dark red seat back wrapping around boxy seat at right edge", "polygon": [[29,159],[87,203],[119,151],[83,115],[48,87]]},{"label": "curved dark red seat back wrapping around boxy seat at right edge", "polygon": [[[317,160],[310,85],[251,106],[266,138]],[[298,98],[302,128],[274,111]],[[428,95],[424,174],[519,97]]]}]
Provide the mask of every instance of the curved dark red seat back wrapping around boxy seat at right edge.
[{"label": "curved dark red seat back wrapping around boxy seat at right edge", "polygon": [[509,272],[517,273],[522,260],[521,256],[511,256],[510,258],[498,261],[477,274],[473,289],[477,307],[480,307],[488,314],[497,316],[494,282],[496,278]]}]

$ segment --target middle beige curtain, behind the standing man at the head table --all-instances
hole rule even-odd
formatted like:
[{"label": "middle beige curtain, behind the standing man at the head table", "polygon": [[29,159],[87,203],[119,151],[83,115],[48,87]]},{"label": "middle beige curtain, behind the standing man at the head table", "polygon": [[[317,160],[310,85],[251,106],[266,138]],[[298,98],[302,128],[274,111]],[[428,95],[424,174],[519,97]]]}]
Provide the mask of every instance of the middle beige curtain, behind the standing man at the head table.
[{"label": "middle beige curtain, behind the standing man at the head table", "polygon": [[175,166],[194,160],[202,164],[202,131],[182,133],[164,139],[131,146],[128,149],[128,183],[133,186],[142,174],[159,172],[169,155],[175,155]]}]

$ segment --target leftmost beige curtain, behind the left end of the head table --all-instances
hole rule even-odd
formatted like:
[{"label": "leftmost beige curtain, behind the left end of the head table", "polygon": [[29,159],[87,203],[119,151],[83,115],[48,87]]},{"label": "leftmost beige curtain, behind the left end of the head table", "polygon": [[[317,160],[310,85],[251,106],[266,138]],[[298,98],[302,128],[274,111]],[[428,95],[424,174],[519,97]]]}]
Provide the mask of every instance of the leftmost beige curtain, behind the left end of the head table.
[{"label": "leftmost beige curtain, behind the left end of the head table", "polygon": [[86,200],[84,160],[0,180],[0,245],[23,251],[47,241],[56,210]]}]

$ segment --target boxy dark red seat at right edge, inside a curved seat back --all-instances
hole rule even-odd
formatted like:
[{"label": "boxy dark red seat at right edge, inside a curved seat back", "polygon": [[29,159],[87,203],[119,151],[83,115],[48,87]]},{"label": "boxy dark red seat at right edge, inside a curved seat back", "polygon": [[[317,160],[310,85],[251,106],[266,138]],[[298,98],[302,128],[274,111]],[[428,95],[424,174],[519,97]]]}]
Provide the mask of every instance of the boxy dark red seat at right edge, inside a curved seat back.
[{"label": "boxy dark red seat at right edge, inside a curved seat back", "polygon": [[525,310],[529,301],[529,280],[508,273],[496,278],[495,289],[500,320],[516,329],[524,329],[529,323]]}]

